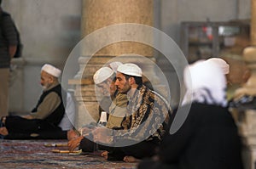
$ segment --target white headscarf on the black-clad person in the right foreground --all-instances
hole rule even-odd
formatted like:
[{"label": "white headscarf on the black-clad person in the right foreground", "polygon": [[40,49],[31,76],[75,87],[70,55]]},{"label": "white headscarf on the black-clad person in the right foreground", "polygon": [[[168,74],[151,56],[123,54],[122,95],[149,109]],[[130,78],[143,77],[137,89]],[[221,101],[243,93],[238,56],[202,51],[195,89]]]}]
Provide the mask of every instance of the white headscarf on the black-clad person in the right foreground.
[{"label": "white headscarf on the black-clad person in the right foreground", "polygon": [[226,78],[218,65],[199,60],[185,67],[184,84],[187,89],[183,104],[191,102],[227,105]]}]

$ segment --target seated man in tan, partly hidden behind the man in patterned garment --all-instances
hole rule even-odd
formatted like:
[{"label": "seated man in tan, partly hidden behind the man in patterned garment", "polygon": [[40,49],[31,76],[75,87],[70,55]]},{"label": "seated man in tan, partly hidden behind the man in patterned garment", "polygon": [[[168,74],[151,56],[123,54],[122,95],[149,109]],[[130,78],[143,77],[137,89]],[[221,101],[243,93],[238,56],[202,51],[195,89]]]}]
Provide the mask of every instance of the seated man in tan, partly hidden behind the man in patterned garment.
[{"label": "seated man in tan, partly hidden behind the man in patterned garment", "polygon": [[[126,114],[127,96],[125,93],[118,93],[114,85],[115,73],[108,67],[102,67],[97,70],[93,76],[96,86],[100,89],[100,92],[104,96],[100,102],[100,111],[106,111],[108,113],[107,128],[121,129],[125,126],[121,126],[121,123]],[[101,113],[101,112],[100,112]],[[92,152],[97,150],[94,143],[92,132],[96,126],[85,126],[81,130],[82,134],[79,134],[73,130],[67,132],[69,139],[68,146],[72,151],[79,147],[84,152]],[[99,149],[106,150],[108,147],[98,145]]]}]

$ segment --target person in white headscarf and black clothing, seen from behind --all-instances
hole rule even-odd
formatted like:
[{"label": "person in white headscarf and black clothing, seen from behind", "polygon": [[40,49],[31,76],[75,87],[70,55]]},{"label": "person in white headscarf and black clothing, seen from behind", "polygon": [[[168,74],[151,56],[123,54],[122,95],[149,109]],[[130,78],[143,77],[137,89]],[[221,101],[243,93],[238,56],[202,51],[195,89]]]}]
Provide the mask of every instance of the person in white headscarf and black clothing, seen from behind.
[{"label": "person in white headscarf and black clothing, seen from behind", "polygon": [[184,83],[187,93],[183,106],[174,110],[172,126],[179,115],[184,115],[183,124],[164,139],[156,158],[142,161],[138,168],[243,168],[241,141],[226,106],[221,68],[197,61],[185,68]]}]

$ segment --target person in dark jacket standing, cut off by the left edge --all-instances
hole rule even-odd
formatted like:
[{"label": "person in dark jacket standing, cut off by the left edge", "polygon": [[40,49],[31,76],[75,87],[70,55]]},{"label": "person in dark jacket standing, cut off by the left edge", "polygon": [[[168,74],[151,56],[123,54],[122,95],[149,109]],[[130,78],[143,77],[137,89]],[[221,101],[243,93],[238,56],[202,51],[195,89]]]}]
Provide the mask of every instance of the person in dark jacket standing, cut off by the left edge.
[{"label": "person in dark jacket standing, cut off by the left edge", "polygon": [[[0,0],[0,5],[2,0]],[[9,68],[17,49],[18,39],[15,23],[10,14],[0,6],[0,116],[9,110]]]}]

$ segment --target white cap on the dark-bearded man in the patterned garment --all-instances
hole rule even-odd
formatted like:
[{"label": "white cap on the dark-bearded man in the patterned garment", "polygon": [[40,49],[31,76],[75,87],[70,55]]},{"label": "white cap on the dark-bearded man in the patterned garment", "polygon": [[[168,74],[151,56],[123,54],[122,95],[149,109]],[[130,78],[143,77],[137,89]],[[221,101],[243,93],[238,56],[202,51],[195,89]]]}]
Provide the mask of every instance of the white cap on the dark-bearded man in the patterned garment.
[{"label": "white cap on the dark-bearded man in the patterned garment", "polygon": [[125,75],[130,75],[130,76],[143,76],[143,71],[142,69],[135,65],[135,64],[123,64],[119,65],[117,71],[120,73],[123,73]]}]

